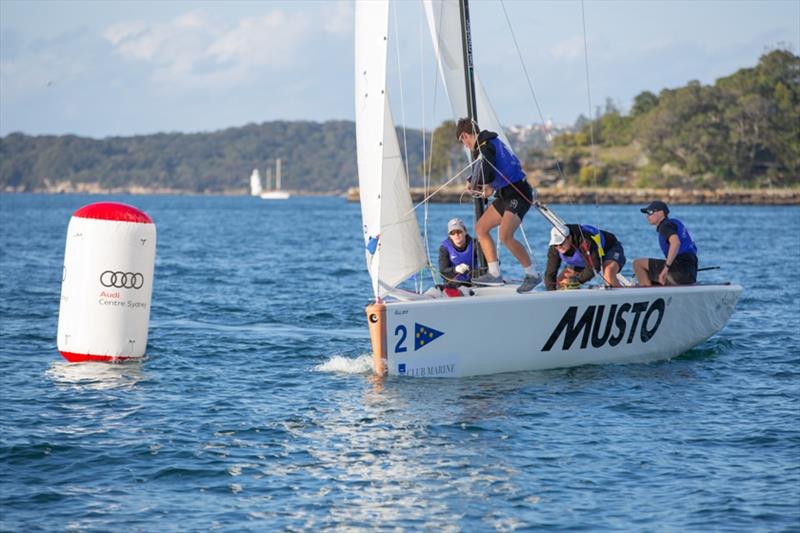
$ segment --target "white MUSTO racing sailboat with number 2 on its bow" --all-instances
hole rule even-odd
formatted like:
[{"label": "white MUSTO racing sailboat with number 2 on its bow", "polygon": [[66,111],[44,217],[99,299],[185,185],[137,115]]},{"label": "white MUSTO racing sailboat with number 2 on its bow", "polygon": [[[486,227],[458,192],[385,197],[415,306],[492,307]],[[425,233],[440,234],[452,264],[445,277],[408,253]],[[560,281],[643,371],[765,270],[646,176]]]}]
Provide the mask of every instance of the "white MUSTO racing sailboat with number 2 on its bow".
[{"label": "white MUSTO racing sailboat with number 2 on its bow", "polygon": [[[501,133],[474,73],[467,1],[423,4],[453,116]],[[429,265],[389,105],[389,0],[356,2],[355,20],[356,143],[375,373],[463,377],[654,361],[680,355],[724,327],[741,286],[518,294],[507,284],[474,287],[457,298],[400,288]],[[561,223],[546,206],[537,208]]]}]

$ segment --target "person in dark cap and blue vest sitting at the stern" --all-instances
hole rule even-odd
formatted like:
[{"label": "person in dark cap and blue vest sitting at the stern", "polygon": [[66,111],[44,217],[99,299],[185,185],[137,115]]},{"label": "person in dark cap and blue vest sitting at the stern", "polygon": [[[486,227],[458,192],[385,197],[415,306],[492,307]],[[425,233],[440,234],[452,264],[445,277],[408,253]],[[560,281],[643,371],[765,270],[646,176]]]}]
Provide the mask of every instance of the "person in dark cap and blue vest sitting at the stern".
[{"label": "person in dark cap and blue vest sitting at the stern", "polygon": [[641,212],[658,231],[658,244],[665,259],[640,257],[633,261],[639,285],[692,285],[697,281],[697,246],[686,226],[669,217],[669,207],[660,200],[650,202]]}]

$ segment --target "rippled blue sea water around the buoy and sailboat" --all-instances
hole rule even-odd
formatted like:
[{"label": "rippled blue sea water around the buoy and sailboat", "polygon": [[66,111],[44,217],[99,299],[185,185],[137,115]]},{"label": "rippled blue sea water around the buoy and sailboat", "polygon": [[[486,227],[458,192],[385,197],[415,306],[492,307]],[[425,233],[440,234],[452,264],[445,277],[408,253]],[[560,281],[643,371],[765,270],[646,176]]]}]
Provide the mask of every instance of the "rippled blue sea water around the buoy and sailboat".
[{"label": "rippled blue sea water around the buoy and sailboat", "polygon": [[[158,228],[147,358],[70,365],[55,339],[66,228],[105,200]],[[639,206],[552,207],[616,233],[628,276],[660,255]],[[446,221],[470,213],[431,206],[434,263]],[[800,208],[672,214],[700,266],[721,267],[700,281],[744,287],[695,349],[377,379],[357,204],[2,195],[0,530],[798,530]],[[531,212],[524,228],[543,267],[549,227]]]}]

